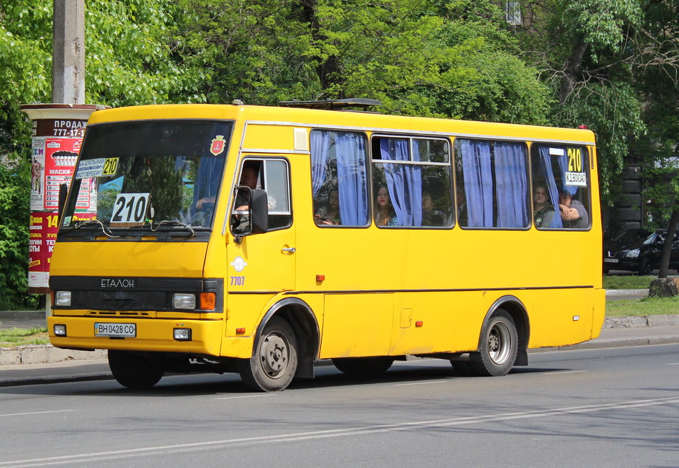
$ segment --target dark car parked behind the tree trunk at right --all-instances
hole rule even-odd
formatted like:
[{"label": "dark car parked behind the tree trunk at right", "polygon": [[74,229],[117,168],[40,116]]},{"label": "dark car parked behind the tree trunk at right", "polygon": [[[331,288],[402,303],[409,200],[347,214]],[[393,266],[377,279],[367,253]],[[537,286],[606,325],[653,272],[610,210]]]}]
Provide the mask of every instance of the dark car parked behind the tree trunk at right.
[{"label": "dark car parked behind the tree trunk at right", "polygon": [[[649,275],[660,265],[665,231],[627,229],[603,244],[603,273],[609,270],[634,271]],[[679,268],[679,237],[674,236],[669,268]]]}]

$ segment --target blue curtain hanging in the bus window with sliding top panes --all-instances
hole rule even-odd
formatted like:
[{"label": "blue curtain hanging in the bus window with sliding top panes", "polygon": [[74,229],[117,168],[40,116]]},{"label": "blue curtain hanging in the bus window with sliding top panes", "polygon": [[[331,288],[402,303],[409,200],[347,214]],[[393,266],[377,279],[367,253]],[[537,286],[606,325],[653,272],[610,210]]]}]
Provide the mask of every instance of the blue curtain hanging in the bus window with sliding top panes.
[{"label": "blue curtain hanging in the bus window with sliding top panes", "polygon": [[[380,138],[379,151],[382,160],[410,160],[409,142],[408,138]],[[384,164],[384,175],[398,226],[421,226],[421,167],[414,164]]]}]

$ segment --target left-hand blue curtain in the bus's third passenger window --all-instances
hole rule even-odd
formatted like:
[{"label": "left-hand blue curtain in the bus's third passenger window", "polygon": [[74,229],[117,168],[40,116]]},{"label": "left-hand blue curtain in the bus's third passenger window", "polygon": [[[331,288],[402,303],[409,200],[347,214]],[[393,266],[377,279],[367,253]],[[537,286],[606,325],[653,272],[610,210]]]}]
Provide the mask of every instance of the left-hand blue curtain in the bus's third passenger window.
[{"label": "left-hand blue curtain in the bus's third passenger window", "polygon": [[490,142],[459,140],[467,201],[468,226],[493,226],[493,187]]}]

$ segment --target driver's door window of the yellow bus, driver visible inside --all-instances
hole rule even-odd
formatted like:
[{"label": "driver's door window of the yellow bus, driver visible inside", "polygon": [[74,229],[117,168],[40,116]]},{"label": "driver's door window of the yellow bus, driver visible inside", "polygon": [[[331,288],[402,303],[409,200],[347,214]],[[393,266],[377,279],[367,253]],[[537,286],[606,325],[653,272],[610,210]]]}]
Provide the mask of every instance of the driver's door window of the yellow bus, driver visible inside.
[{"label": "driver's door window of the yellow bus, driver visible inside", "polygon": [[[269,231],[291,226],[292,211],[290,207],[290,184],[288,162],[282,159],[254,159],[243,161],[239,186],[267,191],[269,208]],[[248,189],[239,189],[231,212],[231,229],[240,233],[247,226]]]}]

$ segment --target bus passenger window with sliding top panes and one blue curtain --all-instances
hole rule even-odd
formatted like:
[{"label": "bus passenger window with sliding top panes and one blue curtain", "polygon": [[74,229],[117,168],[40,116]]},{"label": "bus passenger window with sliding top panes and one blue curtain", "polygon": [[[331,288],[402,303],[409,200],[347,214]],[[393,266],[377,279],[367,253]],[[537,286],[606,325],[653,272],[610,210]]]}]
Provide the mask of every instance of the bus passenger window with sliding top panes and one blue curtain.
[{"label": "bus passenger window with sliding top panes and one blue curtain", "polygon": [[377,226],[452,226],[448,140],[375,136],[371,147]]}]

